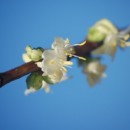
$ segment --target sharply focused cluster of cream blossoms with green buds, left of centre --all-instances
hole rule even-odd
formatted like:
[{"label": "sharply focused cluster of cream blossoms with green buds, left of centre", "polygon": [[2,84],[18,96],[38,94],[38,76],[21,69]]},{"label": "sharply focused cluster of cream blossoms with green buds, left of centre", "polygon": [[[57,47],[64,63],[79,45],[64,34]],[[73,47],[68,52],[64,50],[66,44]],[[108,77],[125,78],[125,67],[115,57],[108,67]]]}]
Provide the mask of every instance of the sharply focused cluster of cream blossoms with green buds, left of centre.
[{"label": "sharply focused cluster of cream blossoms with green buds, left of centre", "polygon": [[35,92],[40,88],[50,92],[50,84],[56,84],[67,79],[66,67],[73,64],[71,61],[67,61],[67,56],[73,53],[73,47],[69,44],[68,39],[56,38],[52,44],[52,49],[44,50],[42,53],[37,49],[32,50],[28,48],[26,47],[27,53],[23,55],[24,61],[43,60],[36,62],[37,66],[41,68],[42,73],[34,72],[27,78],[28,89],[25,91],[25,94]]}]

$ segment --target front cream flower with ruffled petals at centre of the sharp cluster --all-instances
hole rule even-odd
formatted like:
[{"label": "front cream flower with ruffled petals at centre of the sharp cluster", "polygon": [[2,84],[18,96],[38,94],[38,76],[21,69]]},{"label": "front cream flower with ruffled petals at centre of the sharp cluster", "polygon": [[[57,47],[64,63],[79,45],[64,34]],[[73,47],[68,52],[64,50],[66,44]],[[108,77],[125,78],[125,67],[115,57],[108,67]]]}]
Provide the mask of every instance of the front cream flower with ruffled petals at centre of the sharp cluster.
[{"label": "front cream flower with ruffled petals at centre of the sharp cluster", "polygon": [[58,71],[67,71],[65,66],[72,64],[72,62],[67,61],[67,56],[64,53],[59,54],[55,50],[45,50],[43,53],[42,71],[46,75],[52,75]]}]

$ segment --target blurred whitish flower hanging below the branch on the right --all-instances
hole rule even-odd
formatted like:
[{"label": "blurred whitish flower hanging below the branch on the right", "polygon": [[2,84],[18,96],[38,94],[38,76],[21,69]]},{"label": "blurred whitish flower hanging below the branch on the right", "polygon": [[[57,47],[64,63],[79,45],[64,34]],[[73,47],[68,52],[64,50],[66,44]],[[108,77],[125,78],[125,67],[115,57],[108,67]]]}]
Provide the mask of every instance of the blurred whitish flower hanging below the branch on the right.
[{"label": "blurred whitish flower hanging below the branch on the right", "polygon": [[87,75],[90,86],[94,86],[101,78],[106,77],[105,70],[106,66],[102,65],[99,60],[91,61],[84,65],[84,73]]}]

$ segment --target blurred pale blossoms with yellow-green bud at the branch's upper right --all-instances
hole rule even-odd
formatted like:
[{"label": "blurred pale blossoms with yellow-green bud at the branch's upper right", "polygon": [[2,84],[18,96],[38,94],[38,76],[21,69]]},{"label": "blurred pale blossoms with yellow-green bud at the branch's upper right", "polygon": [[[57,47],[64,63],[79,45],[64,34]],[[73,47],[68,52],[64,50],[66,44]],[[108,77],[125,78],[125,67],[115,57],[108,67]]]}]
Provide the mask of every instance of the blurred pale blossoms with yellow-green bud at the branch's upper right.
[{"label": "blurred pale blossoms with yellow-green bud at the branch's upper right", "polygon": [[92,51],[91,54],[108,54],[113,58],[116,53],[117,46],[120,46],[121,48],[130,46],[129,42],[126,42],[126,40],[129,39],[129,33],[130,28],[119,32],[116,26],[107,19],[97,22],[90,28],[88,40],[92,42],[103,41],[103,45]]}]

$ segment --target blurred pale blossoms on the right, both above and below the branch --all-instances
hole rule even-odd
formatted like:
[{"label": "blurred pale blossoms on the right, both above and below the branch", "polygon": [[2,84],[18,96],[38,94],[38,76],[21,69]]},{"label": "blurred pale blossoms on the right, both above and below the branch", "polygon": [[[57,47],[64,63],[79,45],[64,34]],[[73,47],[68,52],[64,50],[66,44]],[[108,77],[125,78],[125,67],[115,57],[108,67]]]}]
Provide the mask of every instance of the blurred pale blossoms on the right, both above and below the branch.
[{"label": "blurred pale blossoms on the right, both above and below the branch", "polygon": [[97,44],[100,42],[103,43],[100,47],[91,52],[88,57],[90,60],[87,60],[87,62],[80,61],[90,86],[96,85],[101,81],[101,78],[106,77],[106,65],[100,63],[101,58],[98,57],[94,59],[93,56],[108,54],[114,58],[118,46],[121,48],[130,46],[130,42],[128,42],[129,38],[130,27],[119,31],[117,27],[107,19],[98,21],[89,29],[87,39]]}]

